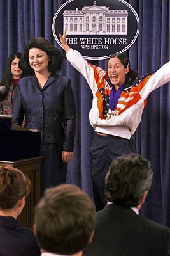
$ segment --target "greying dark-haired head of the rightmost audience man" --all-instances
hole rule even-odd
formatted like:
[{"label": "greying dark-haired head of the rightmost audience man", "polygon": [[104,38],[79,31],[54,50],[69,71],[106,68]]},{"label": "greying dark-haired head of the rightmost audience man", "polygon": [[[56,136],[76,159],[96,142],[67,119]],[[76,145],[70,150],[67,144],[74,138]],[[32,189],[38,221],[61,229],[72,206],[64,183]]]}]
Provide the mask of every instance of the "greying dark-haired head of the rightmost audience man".
[{"label": "greying dark-haired head of the rightmost audience man", "polygon": [[150,162],[139,154],[117,157],[106,175],[106,200],[123,207],[138,206],[152,184]]}]

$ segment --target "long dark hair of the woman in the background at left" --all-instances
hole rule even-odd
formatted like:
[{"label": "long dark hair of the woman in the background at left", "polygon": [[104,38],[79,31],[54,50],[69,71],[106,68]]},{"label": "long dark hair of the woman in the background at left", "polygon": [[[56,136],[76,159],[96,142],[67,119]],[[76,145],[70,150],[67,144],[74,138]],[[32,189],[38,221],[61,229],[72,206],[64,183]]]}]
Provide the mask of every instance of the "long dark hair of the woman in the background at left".
[{"label": "long dark hair of the woman in the background at left", "polygon": [[[6,87],[6,92],[4,93],[3,98],[5,98],[6,95],[8,95],[8,91],[10,90],[10,86],[11,86],[11,81],[13,79],[13,75],[11,74],[11,63],[15,58],[20,59],[21,56],[22,54],[20,52],[13,52],[8,57],[8,61],[6,63],[6,68],[4,71],[4,77],[3,77],[3,80],[0,82],[0,85],[3,85]],[[24,77],[23,73],[21,77]]]}]

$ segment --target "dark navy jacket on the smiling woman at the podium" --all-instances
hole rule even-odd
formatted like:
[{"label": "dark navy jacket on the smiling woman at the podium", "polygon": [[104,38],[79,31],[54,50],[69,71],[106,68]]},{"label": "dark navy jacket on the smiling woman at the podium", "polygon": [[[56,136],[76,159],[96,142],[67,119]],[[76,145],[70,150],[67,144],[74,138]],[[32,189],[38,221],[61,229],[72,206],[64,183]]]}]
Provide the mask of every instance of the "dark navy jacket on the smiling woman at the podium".
[{"label": "dark navy jacket on the smiling woman at the podium", "polygon": [[76,108],[71,81],[51,74],[41,90],[36,76],[19,80],[13,99],[13,122],[41,132],[41,143],[62,143],[62,150],[73,151]]}]

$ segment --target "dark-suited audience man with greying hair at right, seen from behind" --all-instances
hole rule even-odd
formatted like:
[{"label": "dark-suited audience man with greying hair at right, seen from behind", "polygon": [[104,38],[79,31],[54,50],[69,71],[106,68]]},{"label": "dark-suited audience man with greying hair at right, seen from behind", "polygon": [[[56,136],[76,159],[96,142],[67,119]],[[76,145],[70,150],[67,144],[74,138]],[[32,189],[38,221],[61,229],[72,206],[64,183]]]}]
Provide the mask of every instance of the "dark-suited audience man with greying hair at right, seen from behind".
[{"label": "dark-suited audience man with greying hair at right, seen from behind", "polygon": [[139,215],[152,184],[150,162],[138,154],[117,157],[106,175],[108,204],[96,214],[84,256],[170,255],[170,229]]}]

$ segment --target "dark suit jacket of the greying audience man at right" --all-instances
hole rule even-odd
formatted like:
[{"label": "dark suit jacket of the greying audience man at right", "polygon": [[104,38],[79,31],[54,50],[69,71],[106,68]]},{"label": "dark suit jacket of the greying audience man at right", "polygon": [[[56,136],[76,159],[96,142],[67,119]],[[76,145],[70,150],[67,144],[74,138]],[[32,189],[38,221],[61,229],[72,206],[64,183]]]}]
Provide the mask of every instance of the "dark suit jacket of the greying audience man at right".
[{"label": "dark suit jacket of the greying audience man at right", "polygon": [[106,205],[97,212],[92,243],[84,256],[167,256],[170,229],[137,215],[132,209]]}]

